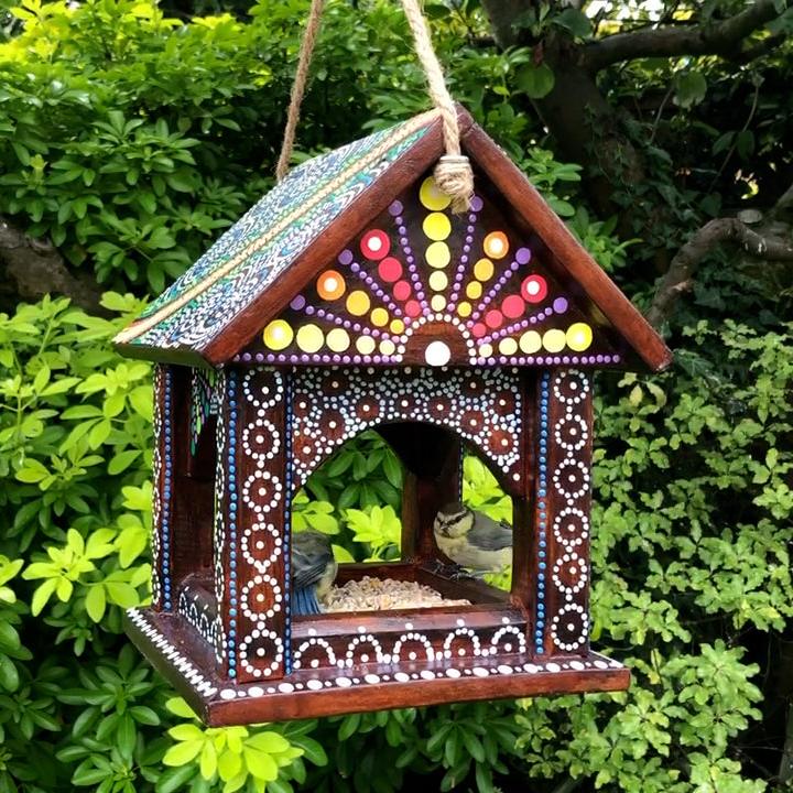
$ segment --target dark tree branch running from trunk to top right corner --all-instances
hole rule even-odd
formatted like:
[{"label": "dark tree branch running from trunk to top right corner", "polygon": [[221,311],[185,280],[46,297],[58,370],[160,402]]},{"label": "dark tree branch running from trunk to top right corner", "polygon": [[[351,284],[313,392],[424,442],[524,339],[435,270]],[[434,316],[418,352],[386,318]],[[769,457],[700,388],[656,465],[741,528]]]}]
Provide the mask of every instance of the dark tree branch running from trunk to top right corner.
[{"label": "dark tree branch running from trunk to top right corner", "polygon": [[621,61],[681,55],[720,55],[740,58],[740,43],[780,12],[774,0],[757,0],[746,11],[720,22],[682,28],[669,25],[617,33],[584,47],[584,65],[598,72]]}]

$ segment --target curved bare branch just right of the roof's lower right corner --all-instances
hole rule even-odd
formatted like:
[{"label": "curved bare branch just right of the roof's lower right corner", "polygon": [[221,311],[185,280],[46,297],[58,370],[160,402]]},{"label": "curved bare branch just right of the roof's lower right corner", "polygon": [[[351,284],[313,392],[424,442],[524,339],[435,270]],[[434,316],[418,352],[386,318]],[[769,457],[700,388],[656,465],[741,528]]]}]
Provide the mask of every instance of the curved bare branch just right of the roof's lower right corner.
[{"label": "curved bare branch just right of the roof's lower right corner", "polygon": [[666,274],[659,282],[648,322],[660,327],[680,297],[694,286],[693,276],[699,262],[715,248],[731,242],[754,259],[793,262],[793,245],[752,231],[738,218],[718,218],[706,222],[675,254]]}]

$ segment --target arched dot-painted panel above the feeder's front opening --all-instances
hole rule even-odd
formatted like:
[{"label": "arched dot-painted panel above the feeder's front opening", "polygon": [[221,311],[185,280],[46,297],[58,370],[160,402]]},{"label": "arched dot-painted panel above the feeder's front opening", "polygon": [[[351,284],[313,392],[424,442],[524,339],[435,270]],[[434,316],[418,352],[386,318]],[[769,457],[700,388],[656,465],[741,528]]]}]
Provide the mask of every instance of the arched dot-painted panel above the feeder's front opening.
[{"label": "arched dot-painted panel above the feeder's front opening", "polygon": [[519,484],[521,399],[517,369],[297,369],[295,485],[343,443],[388,422],[427,422],[456,432]]}]

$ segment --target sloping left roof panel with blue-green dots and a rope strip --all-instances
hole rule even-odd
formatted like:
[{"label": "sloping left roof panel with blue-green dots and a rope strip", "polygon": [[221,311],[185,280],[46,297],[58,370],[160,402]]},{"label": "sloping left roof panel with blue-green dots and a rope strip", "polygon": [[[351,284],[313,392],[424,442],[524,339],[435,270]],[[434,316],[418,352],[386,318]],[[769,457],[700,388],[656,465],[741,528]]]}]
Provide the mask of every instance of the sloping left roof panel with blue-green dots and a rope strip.
[{"label": "sloping left roof panel with blue-green dots and a rope strip", "polygon": [[118,337],[200,350],[406,152],[435,112],[295,169]]}]

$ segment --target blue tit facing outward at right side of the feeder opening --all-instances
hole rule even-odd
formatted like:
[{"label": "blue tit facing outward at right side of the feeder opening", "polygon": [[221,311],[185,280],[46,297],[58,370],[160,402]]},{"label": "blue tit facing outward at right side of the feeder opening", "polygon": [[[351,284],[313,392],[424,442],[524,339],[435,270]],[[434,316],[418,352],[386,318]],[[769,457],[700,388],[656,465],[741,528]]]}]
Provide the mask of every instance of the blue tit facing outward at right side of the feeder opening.
[{"label": "blue tit facing outward at right side of the feeder opening", "polygon": [[495,573],[512,563],[512,526],[459,501],[438,510],[433,531],[441,551],[463,567]]}]

